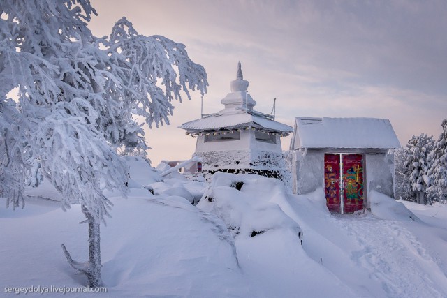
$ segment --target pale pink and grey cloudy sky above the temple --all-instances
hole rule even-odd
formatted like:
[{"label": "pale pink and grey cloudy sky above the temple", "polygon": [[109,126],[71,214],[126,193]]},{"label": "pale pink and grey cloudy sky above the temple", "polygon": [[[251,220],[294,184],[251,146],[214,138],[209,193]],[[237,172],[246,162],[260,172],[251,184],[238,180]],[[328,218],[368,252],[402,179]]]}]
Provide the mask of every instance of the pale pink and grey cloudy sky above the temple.
[{"label": "pale pink and grey cloudy sky above the temple", "polygon": [[[241,61],[255,110],[270,113],[277,98],[277,120],[290,126],[298,116],[384,118],[406,144],[420,133],[437,139],[447,118],[445,0],[91,3],[96,36],[125,16],[140,34],[184,43],[207,71],[205,113],[221,110]],[[154,166],[191,158],[196,139],[177,126],[198,118],[193,94],[175,103],[170,126],[147,130]]]}]

